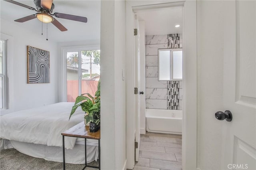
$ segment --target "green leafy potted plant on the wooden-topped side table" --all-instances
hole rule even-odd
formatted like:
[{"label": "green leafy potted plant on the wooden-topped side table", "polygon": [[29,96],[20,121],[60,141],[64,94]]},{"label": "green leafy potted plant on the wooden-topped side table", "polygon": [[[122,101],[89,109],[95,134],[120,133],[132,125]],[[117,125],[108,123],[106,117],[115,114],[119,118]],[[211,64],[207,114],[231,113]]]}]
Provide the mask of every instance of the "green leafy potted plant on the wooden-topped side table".
[{"label": "green leafy potted plant on the wooden-topped side table", "polygon": [[[84,95],[87,95],[88,97]],[[76,97],[76,102],[72,107],[70,117],[75,113],[79,106],[82,111],[86,112],[84,119],[87,123],[90,122],[90,132],[98,131],[100,128],[100,80],[98,81],[98,87],[94,97],[89,93],[84,93]]]}]

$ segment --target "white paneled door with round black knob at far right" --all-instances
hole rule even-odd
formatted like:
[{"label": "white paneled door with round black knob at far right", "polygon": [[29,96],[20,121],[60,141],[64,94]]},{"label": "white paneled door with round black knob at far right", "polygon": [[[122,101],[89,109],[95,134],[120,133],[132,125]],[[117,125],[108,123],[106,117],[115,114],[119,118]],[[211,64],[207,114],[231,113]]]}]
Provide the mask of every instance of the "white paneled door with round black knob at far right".
[{"label": "white paneled door with round black knob at far right", "polygon": [[[256,170],[256,1],[226,1],[221,169]],[[223,111],[224,112],[224,111]]]}]

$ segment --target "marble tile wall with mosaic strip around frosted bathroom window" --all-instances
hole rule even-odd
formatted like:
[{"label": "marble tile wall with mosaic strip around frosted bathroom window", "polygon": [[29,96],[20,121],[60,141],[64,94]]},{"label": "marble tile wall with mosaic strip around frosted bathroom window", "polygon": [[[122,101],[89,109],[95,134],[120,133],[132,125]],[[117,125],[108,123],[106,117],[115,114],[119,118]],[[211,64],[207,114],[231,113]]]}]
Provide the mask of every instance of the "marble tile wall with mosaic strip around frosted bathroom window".
[{"label": "marble tile wall with mosaic strip around frosted bathroom window", "polygon": [[[181,34],[146,36],[146,108],[182,110],[182,81],[175,81],[178,89],[170,84],[173,81],[158,81],[158,49],[168,48],[174,43],[182,44]],[[181,46],[182,47],[182,46]]]}]

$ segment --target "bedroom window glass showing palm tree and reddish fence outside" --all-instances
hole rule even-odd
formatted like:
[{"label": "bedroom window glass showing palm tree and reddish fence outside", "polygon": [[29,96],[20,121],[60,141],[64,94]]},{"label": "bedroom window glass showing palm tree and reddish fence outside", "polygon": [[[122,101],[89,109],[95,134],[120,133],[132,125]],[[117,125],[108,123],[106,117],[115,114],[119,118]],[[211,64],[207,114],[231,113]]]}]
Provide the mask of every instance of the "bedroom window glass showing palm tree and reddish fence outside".
[{"label": "bedroom window glass showing palm tree and reddish fence outside", "polygon": [[66,52],[67,102],[83,93],[94,95],[100,79],[100,50]]}]

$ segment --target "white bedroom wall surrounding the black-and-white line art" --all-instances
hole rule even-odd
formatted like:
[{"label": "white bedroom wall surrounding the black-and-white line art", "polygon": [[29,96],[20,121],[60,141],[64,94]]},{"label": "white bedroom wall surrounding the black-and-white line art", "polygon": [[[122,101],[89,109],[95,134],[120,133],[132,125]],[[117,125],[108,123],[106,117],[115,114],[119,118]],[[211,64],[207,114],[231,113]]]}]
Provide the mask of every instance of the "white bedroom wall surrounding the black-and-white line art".
[{"label": "white bedroom wall surrounding the black-and-white line art", "polygon": [[[40,30],[38,34],[34,34],[12,22],[3,19],[0,22],[0,32],[12,36],[14,42],[13,49],[11,49],[12,55],[8,56],[13,61],[12,70],[9,70],[13,76],[9,77],[13,80],[10,91],[14,91],[10,111],[58,102],[57,43],[51,42],[50,37],[46,41],[46,36],[42,36]],[[50,51],[50,83],[27,84],[27,45]],[[2,113],[8,113],[8,111]]]}]

